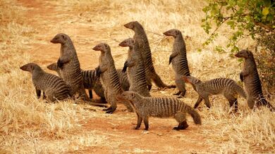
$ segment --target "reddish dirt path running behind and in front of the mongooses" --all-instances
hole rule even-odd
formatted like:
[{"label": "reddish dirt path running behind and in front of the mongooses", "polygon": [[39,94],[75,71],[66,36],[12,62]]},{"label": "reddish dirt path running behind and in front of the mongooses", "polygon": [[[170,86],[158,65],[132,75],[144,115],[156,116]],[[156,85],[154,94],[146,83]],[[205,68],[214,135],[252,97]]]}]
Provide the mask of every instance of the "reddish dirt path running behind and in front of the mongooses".
[{"label": "reddish dirt path running behind and in front of the mongooses", "polygon": [[[78,51],[78,58],[82,68],[97,67],[99,53],[92,51],[92,46],[97,42],[94,25],[78,23],[78,13],[62,6],[54,5],[49,1],[20,0],[20,4],[29,8],[27,11],[27,25],[35,27],[35,40],[31,50],[33,61],[45,68],[55,62],[59,57],[59,44],[51,44],[49,40],[55,34],[63,32],[69,34]],[[120,107],[121,108],[121,105]],[[104,114],[102,112],[102,114]],[[121,109],[109,117],[88,117],[82,120],[81,134],[88,134],[91,130],[97,135],[107,136],[108,142],[103,146],[87,146],[78,151],[69,153],[196,153],[200,150],[207,151],[205,135],[201,127],[195,126],[193,120],[188,119],[190,127],[184,131],[172,131],[177,125],[176,120],[150,118],[149,131],[132,129],[136,123],[134,113],[125,113]],[[202,126],[203,127],[203,126]],[[142,129],[144,125],[142,124]],[[115,144],[117,143],[117,144]],[[109,146],[118,145],[118,146]]]}]

